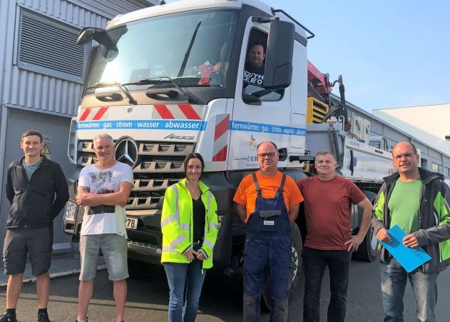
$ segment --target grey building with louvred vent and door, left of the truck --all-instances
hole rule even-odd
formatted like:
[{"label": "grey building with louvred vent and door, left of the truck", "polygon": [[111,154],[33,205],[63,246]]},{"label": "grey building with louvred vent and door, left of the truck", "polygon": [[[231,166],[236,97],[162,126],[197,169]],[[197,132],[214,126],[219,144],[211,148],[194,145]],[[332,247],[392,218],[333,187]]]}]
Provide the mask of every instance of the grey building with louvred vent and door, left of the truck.
[{"label": "grey building with louvred vent and door, left of the truck", "polygon": [[[44,135],[46,156],[61,164],[67,177],[71,117],[81,101],[89,47],[76,44],[84,26],[104,28],[118,14],[153,6],[155,0],[0,1],[0,247],[9,213],[4,185],[9,163],[24,155],[21,134]],[[6,31],[6,32],[5,32]],[[54,223],[53,249],[71,251],[70,238]]]}]

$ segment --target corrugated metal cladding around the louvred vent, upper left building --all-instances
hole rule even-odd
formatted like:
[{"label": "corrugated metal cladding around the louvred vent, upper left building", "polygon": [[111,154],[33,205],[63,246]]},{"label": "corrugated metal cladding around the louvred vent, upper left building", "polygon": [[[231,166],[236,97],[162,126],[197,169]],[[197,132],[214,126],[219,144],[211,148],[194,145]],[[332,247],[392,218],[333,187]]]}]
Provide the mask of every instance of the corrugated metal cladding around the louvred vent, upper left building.
[{"label": "corrugated metal cladding around the louvred vent, upper left building", "polygon": [[[142,3],[141,3],[142,2]],[[81,84],[19,69],[14,62],[17,49],[20,6],[76,26],[104,28],[119,13],[144,7],[143,1],[121,0],[19,0],[0,1],[0,99],[6,106],[49,111],[61,116],[76,114]]]}]

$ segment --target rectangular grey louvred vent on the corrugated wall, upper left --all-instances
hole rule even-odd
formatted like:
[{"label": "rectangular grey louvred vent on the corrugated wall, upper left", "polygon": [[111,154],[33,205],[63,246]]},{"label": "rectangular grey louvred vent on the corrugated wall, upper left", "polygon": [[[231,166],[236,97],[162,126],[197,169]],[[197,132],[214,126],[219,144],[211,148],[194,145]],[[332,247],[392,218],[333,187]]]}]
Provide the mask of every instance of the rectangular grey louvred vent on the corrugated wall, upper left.
[{"label": "rectangular grey louvred vent on the corrugated wall, upper left", "polygon": [[83,83],[85,48],[79,29],[21,9],[17,66],[39,74]]}]

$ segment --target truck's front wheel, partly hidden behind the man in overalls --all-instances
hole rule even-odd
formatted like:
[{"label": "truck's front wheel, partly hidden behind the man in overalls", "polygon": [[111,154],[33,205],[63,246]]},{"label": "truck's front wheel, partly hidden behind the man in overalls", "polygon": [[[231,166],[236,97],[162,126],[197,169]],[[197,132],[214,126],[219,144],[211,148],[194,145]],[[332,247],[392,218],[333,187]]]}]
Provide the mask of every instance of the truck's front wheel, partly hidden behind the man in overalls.
[{"label": "truck's front wheel, partly hidden behind the man in overalls", "polygon": [[[295,291],[300,281],[300,271],[302,270],[302,236],[300,235],[300,229],[298,226],[292,225],[291,227],[291,278],[289,283],[289,296]],[[267,308],[271,308],[270,290],[269,290],[269,278],[266,276],[264,291],[262,293],[265,305]]]}]

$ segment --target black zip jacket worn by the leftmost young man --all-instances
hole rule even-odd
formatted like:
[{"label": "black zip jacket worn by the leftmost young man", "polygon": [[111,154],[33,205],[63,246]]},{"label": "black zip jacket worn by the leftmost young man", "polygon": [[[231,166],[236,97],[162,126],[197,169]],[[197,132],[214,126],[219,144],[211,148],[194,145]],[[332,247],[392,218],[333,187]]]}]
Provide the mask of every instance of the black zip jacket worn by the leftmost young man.
[{"label": "black zip jacket worn by the leftmost young man", "polygon": [[6,228],[52,227],[53,218],[68,201],[68,186],[61,166],[45,156],[42,158],[30,181],[26,176],[24,157],[9,165],[6,197],[11,203],[11,211]]}]

